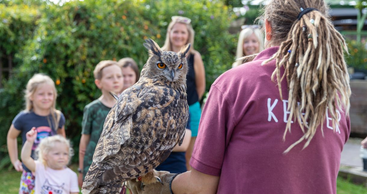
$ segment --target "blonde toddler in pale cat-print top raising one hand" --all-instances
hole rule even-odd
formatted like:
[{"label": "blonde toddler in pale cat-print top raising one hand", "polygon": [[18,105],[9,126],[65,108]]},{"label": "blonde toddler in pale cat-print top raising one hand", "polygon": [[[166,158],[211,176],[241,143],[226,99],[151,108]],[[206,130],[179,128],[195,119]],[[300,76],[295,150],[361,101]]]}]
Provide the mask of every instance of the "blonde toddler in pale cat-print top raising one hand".
[{"label": "blonde toddler in pale cat-print top raising one hand", "polygon": [[41,140],[36,149],[38,160],[30,157],[37,131],[32,128],[26,133],[26,142],[22,148],[23,164],[35,173],[34,193],[36,194],[78,194],[78,177],[66,165],[69,163],[72,149],[70,143],[60,135]]}]

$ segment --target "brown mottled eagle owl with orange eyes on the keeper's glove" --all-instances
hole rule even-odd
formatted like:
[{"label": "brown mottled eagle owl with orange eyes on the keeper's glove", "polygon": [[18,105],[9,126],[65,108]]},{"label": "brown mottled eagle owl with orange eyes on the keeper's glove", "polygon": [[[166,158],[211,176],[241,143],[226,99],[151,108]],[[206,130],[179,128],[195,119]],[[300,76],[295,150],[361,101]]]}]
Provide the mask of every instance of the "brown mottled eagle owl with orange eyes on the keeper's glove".
[{"label": "brown mottled eagle owl with orange eyes on the keeper's glove", "polygon": [[84,179],[82,193],[120,193],[123,182],[160,181],[153,170],[182,143],[188,121],[186,54],[161,51],[152,39],[139,81],[112,107]]}]

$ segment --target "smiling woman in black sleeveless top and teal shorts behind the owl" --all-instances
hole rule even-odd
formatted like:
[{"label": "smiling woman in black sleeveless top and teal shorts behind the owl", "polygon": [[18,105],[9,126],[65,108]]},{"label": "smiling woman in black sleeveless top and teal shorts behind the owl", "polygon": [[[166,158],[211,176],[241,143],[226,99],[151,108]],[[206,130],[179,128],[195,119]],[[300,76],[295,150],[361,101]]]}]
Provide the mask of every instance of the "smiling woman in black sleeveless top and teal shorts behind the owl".
[{"label": "smiling woman in black sleeveless top and teal shorts behind the owl", "polygon": [[186,76],[187,102],[190,112],[191,140],[186,150],[186,167],[190,169],[192,149],[199,128],[201,117],[200,99],[205,92],[205,69],[203,60],[199,52],[194,50],[195,32],[191,26],[191,19],[182,16],[172,16],[172,21],[168,25],[166,41],[162,47],[163,51],[178,52],[183,45],[191,44],[189,54],[186,56],[189,71]]}]

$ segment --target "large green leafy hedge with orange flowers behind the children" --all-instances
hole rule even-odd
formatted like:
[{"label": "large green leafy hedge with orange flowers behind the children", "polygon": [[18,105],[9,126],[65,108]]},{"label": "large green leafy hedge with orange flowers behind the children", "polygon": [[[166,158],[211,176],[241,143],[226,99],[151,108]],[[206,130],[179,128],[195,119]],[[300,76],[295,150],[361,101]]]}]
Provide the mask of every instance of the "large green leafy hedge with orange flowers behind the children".
[{"label": "large green leafy hedge with orange flowers behind the children", "polygon": [[[46,2],[47,3],[47,2]],[[207,90],[233,63],[236,35],[227,32],[228,8],[221,1],[70,1],[39,6],[42,13],[33,37],[15,57],[20,61],[0,92],[0,132],[6,134],[23,109],[23,90],[34,73],[57,84],[57,108],[66,117],[66,135],[79,145],[83,107],[101,92],[94,84],[94,66],[101,60],[131,57],[141,68],[148,59],[144,39],[163,45],[172,15],[192,19],[195,49],[206,68]],[[5,37],[6,38],[6,37]],[[0,145],[6,137],[0,137]],[[3,153],[4,154],[4,153]],[[0,157],[2,157],[0,155]],[[77,156],[73,158],[77,160]]]}]

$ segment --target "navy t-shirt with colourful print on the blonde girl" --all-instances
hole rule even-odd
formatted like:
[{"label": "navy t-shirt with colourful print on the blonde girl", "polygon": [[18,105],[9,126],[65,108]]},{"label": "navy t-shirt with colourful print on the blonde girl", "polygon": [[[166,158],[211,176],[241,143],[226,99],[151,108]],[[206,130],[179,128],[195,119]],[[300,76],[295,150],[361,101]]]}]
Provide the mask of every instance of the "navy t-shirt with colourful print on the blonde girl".
[{"label": "navy t-shirt with colourful print on the blonde girl", "polygon": [[[52,117],[49,116],[39,116],[33,111],[21,111],[15,116],[12,124],[14,125],[15,129],[21,131],[22,135],[22,147],[25,143],[26,133],[32,129],[32,127],[36,127],[37,130],[37,138],[34,140],[33,147],[32,147],[32,154],[31,157],[34,160],[37,160],[36,155],[34,154],[34,150],[36,150],[38,144],[41,142],[43,138],[48,136],[56,135],[57,129],[52,126]],[[50,126],[51,125],[51,126]],[[58,128],[62,128],[65,125],[65,117],[61,113],[60,120],[58,123]],[[26,172],[30,172],[28,168],[25,167],[23,164],[23,169]]]}]

